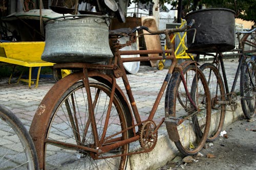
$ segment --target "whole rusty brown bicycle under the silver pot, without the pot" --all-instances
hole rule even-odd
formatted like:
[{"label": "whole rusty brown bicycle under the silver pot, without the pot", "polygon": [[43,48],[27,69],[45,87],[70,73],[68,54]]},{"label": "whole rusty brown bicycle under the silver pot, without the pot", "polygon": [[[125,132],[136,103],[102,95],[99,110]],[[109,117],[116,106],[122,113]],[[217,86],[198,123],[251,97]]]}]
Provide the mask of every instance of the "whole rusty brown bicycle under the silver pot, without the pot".
[{"label": "whole rusty brown bicycle under the silver pot, without the pot", "polygon": [[[73,18],[72,18],[73,19]],[[195,155],[204,146],[210,127],[210,94],[197,62],[178,64],[169,34],[180,29],[152,31],[146,27],[110,31],[114,57],[102,63],[59,63],[54,68],[72,69],[41,101],[30,134],[38,154],[40,169],[125,169],[129,155],[154,149],[160,126],[165,122],[169,138],[184,155]],[[165,34],[168,49],[120,51],[136,42],[135,32]],[[120,44],[118,39],[129,37]],[[170,56],[121,58],[130,54]],[[123,62],[172,60],[162,87],[146,120],[141,120]],[[116,83],[122,79],[127,95]],[[165,116],[156,125],[157,106],[165,94]],[[126,97],[127,96],[127,97]],[[141,150],[129,152],[129,144],[139,141]]]}]

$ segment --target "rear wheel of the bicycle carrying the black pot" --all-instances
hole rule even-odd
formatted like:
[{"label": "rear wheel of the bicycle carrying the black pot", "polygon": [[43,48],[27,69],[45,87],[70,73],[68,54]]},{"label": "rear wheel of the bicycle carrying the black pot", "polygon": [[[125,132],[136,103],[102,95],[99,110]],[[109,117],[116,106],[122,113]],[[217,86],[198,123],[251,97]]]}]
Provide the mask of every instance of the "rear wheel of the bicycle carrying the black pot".
[{"label": "rear wheel of the bicycle carrying the black pot", "polygon": [[[225,101],[225,90],[219,70],[214,64],[204,63],[200,66],[200,69],[205,76],[211,96],[211,126],[206,140],[211,142],[219,137],[224,124],[226,110],[225,104],[221,104],[221,102]],[[192,85],[192,87],[194,88],[191,93],[195,93],[196,86]],[[196,126],[196,128],[201,134],[199,126]]]}]

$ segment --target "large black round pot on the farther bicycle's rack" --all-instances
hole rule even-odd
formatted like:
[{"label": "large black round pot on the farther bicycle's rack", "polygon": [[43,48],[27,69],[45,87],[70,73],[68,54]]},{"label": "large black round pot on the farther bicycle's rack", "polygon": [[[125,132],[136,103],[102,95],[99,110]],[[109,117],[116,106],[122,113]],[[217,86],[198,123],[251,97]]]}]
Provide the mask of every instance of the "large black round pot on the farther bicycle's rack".
[{"label": "large black round pot on the farther bicycle's rack", "polygon": [[195,42],[192,42],[194,32],[187,32],[187,46],[189,52],[225,52],[232,50],[235,45],[234,11],[225,8],[208,8],[194,11],[186,15],[189,22],[195,19],[192,28],[197,29]]}]

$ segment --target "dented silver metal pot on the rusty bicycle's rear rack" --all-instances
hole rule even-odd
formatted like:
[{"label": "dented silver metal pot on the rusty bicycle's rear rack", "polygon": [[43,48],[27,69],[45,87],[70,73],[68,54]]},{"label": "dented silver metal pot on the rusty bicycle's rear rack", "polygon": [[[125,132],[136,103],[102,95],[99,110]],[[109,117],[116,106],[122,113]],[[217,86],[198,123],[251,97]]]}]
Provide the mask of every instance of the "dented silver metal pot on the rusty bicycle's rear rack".
[{"label": "dented silver metal pot on the rusty bicycle's rear rack", "polygon": [[42,60],[96,63],[111,57],[108,21],[103,16],[62,17],[47,22]]}]

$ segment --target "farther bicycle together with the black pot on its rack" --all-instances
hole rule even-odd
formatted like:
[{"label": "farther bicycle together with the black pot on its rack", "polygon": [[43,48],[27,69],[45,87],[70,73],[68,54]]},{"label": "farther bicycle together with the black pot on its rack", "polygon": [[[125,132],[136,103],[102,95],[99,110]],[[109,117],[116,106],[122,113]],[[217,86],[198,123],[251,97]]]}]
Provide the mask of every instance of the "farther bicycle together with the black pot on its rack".
[{"label": "farther bicycle together with the black pot on its rack", "polygon": [[[235,111],[237,109],[238,95],[241,96],[245,117],[249,119],[255,114],[256,67],[250,56],[256,55],[256,28],[236,33],[235,16],[235,11],[225,8],[202,9],[186,15],[187,20],[196,20],[193,28],[197,30],[194,43],[189,41],[194,38],[194,35],[189,32],[187,34],[187,52],[213,58],[212,62],[206,62],[200,66],[211,95],[211,127],[207,141],[214,141],[219,137],[224,125],[226,110]],[[231,90],[223,61],[224,57],[229,56],[239,58]],[[235,88],[240,72],[240,92],[236,92]]]}]

